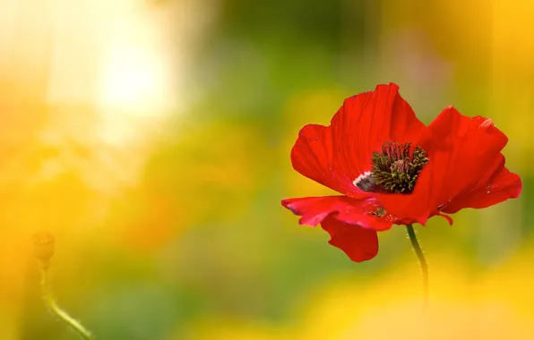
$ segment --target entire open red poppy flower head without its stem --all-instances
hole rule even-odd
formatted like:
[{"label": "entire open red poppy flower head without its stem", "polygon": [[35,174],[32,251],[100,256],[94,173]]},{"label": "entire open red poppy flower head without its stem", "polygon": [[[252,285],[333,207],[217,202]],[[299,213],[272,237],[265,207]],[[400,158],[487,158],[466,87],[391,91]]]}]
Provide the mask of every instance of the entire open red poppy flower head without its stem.
[{"label": "entire open red poppy flower head without its stem", "polygon": [[341,195],[281,203],[301,225],[321,224],[350,259],[373,259],[377,231],[436,215],[452,224],[444,214],[518,197],[521,179],[501,153],[507,141],[491,119],[453,106],[426,126],[397,85],[378,85],[345,99],[330,126],[306,125],[291,150],[297,172]]}]

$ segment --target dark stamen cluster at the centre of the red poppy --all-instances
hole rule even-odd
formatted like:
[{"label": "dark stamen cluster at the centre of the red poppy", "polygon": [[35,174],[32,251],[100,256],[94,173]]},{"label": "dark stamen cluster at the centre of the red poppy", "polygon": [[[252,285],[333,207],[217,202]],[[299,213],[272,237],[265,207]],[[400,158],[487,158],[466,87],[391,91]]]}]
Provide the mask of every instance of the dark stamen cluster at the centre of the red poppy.
[{"label": "dark stamen cluster at the centre of the red poppy", "polygon": [[424,149],[415,147],[413,152],[410,152],[410,148],[411,143],[386,142],[382,152],[373,153],[371,174],[383,191],[413,191],[418,174],[428,163],[428,157]]}]

